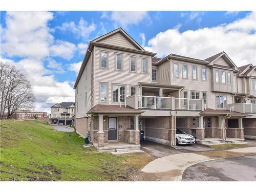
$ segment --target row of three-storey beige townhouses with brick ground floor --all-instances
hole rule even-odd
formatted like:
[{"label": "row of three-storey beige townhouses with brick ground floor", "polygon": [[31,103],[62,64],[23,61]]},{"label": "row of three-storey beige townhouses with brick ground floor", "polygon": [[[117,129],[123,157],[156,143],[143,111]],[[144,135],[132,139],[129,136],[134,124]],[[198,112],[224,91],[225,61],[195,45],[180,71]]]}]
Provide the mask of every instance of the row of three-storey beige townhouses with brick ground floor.
[{"label": "row of three-storey beige townhouses with brick ground floor", "polygon": [[225,52],[155,55],[121,28],[90,41],[74,85],[76,132],[98,150],[139,147],[141,131],[175,145],[176,127],[199,143],[244,140],[243,126],[254,133],[255,67]]}]

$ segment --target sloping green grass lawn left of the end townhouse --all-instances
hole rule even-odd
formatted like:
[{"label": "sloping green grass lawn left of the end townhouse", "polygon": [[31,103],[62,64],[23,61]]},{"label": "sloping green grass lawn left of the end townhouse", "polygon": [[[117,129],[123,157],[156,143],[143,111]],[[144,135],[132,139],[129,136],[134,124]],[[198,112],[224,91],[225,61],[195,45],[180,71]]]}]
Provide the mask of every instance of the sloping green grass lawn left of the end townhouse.
[{"label": "sloping green grass lawn left of the end townhouse", "polygon": [[1,181],[129,181],[154,157],[112,155],[83,148],[74,132],[57,132],[44,121],[0,122]]}]

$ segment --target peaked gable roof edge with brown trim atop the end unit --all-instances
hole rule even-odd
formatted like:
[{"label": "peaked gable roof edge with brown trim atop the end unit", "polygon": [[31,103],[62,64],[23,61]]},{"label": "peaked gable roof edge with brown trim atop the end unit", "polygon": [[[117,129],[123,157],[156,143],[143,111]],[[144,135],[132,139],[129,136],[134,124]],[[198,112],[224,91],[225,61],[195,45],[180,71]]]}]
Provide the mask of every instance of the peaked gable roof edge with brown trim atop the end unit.
[{"label": "peaked gable roof edge with brown trim atop the end unit", "polygon": [[93,39],[92,42],[98,42],[99,40],[102,40],[106,37],[109,37],[111,35],[114,35],[116,33],[121,33],[124,38],[126,38],[127,40],[129,40],[131,42],[132,45],[134,45],[137,49],[139,50],[142,50],[142,51],[145,51],[129,34],[127,34],[121,27],[109,32],[109,33],[106,33],[96,39]]}]

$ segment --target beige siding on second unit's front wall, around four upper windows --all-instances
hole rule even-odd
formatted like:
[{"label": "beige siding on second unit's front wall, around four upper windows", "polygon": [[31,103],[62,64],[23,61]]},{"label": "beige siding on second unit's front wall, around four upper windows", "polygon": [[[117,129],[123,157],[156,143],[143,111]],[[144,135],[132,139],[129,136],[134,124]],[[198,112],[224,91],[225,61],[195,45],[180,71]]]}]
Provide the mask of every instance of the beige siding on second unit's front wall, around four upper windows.
[{"label": "beige siding on second unit's front wall, around four upper windows", "polygon": [[[198,65],[195,63],[183,62],[178,60],[171,60],[172,65],[173,63],[178,63],[179,65],[179,77],[174,77],[173,67],[171,69],[171,77],[172,77],[172,84],[175,86],[184,86],[184,90],[188,91],[188,98],[191,98],[192,91],[199,91],[199,97],[202,98],[202,92],[207,92],[207,107],[211,109],[216,108],[215,103],[215,93],[211,92],[211,70],[210,68],[204,65]],[[187,79],[182,78],[182,65],[187,65]],[[193,66],[197,67],[197,80],[192,79],[192,69]],[[202,81],[202,68],[206,68],[206,81]]]}]

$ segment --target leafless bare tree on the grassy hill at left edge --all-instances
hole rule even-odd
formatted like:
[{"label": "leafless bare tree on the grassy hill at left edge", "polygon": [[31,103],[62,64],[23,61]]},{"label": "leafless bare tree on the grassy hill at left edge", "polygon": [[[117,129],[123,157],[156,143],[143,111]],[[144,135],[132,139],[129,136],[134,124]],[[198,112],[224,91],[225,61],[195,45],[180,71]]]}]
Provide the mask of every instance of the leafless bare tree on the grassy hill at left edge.
[{"label": "leafless bare tree on the grassy hill at left edge", "polygon": [[14,66],[0,62],[0,83],[0,119],[10,119],[17,110],[34,108],[31,84]]}]

